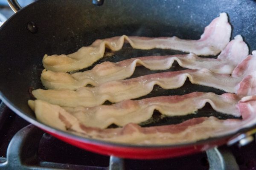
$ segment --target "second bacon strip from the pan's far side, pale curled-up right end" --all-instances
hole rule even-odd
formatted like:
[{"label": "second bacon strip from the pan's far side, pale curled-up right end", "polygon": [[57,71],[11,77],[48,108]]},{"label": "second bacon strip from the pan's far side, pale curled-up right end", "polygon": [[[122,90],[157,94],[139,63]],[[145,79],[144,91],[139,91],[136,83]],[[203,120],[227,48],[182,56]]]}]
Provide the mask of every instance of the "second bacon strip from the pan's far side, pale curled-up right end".
[{"label": "second bacon strip from the pan's far side, pale curled-up right end", "polygon": [[91,70],[75,74],[44,70],[41,74],[41,81],[49,89],[76,90],[88,84],[97,86],[104,82],[131,77],[138,65],[143,65],[150,70],[167,70],[172,67],[172,63],[175,60],[185,68],[207,68],[214,73],[231,74],[234,68],[247,57],[248,52],[248,46],[241,35],[237,35],[221,51],[217,59],[201,58],[192,53],[173,56],[138,57],[116,63],[102,62]]}]

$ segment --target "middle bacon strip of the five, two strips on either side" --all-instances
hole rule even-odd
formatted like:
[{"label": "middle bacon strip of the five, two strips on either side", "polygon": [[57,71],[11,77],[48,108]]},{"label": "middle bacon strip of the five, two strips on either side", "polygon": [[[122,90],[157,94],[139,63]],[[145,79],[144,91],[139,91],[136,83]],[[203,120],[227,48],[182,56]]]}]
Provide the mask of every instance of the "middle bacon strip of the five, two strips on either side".
[{"label": "middle bacon strip of the five, two strips on either side", "polygon": [[37,89],[32,94],[41,100],[66,107],[93,107],[110,102],[121,102],[125,99],[135,99],[149,94],[154,85],[164,89],[181,87],[186,78],[198,85],[205,85],[236,93],[239,96],[256,94],[256,51],[249,55],[230,74],[212,73],[207,69],[183,70],[149,74],[133,79],[105,82],[96,87],[83,87],[73,90],[43,90]]}]

